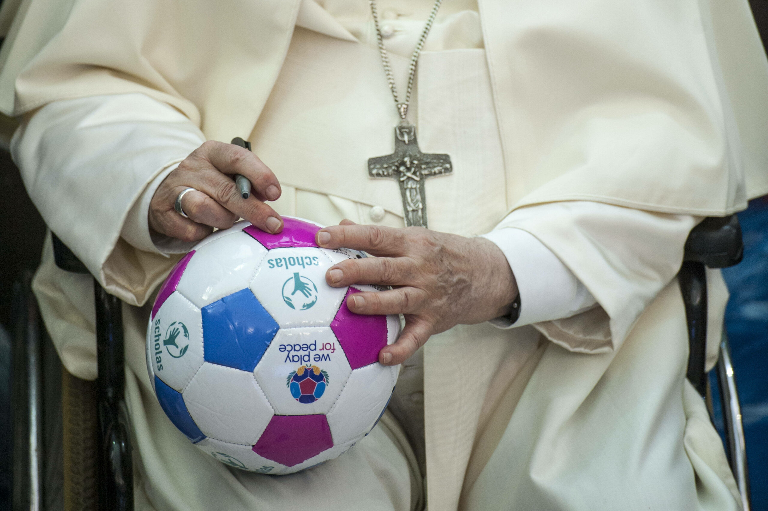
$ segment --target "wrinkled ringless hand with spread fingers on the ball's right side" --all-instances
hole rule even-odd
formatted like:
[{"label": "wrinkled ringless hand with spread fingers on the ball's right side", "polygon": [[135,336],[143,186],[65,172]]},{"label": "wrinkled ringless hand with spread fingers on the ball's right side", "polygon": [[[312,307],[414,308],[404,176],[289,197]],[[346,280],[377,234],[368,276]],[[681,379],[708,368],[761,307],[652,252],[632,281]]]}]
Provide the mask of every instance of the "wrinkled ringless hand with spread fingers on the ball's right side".
[{"label": "wrinkled ringless hand with spread fingers on the ball's right side", "polygon": [[394,289],[350,295],[356,314],[404,314],[406,327],[379,361],[402,363],[433,333],[508,314],[518,294],[506,257],[482,237],[423,227],[393,229],[343,221],[317,233],[320,247],[347,247],[378,257],[350,259],[329,268],[330,286],[382,284]]}]

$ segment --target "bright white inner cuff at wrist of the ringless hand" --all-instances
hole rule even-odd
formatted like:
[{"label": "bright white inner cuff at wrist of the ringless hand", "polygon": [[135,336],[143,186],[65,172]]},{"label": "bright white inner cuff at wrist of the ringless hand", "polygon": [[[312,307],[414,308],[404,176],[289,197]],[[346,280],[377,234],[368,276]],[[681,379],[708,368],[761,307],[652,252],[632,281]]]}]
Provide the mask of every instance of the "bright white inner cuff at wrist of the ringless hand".
[{"label": "bright white inner cuff at wrist of the ringless hand", "polygon": [[506,317],[498,317],[491,320],[495,327],[521,327],[571,317],[597,303],[584,284],[533,234],[503,227],[482,237],[502,249],[520,293],[518,320],[513,324]]}]

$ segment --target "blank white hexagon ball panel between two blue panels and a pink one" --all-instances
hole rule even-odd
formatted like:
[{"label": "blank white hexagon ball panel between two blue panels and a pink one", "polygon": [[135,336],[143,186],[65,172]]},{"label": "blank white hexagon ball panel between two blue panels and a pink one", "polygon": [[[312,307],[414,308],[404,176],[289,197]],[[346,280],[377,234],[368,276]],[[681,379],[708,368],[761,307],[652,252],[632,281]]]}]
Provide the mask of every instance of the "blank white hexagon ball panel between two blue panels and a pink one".
[{"label": "blank white hexagon ball panel between two blue panels and a pink one", "polygon": [[206,436],[253,445],[272,419],[272,406],[253,373],[206,362],[184,390],[187,410]]}]

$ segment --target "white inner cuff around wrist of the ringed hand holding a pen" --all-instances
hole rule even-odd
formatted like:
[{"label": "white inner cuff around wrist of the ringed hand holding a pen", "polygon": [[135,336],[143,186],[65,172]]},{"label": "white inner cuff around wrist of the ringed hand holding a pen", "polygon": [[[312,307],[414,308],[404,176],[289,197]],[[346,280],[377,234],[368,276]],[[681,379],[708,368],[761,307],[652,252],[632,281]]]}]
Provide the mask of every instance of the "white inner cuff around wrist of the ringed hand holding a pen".
[{"label": "white inner cuff around wrist of the ringed hand holding a pen", "polygon": [[144,191],[141,192],[134,205],[131,206],[131,211],[128,211],[120,235],[125,241],[140,251],[153,252],[154,254],[164,256],[168,254],[186,254],[197,244],[197,241],[181,241],[164,234],[150,232],[149,230],[149,204],[152,201],[152,197],[154,197],[154,192],[157,191],[157,187],[167,178],[168,174],[179,166],[179,163],[170,164],[160,174],[157,174],[150,181],[150,184],[144,188]]}]

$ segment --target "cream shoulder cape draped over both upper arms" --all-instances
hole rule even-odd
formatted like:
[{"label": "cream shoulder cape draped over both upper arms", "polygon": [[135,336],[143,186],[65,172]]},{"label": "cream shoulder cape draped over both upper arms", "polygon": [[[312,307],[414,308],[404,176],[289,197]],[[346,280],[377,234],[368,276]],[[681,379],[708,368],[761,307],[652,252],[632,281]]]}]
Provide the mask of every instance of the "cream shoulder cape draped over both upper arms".
[{"label": "cream shoulder cape draped over both upper arms", "polygon": [[[15,4],[0,110],[143,92],[227,141],[256,124],[301,2]],[[511,209],[725,215],[768,193],[768,65],[746,0],[478,4]],[[318,191],[375,204],[362,179]]]}]

